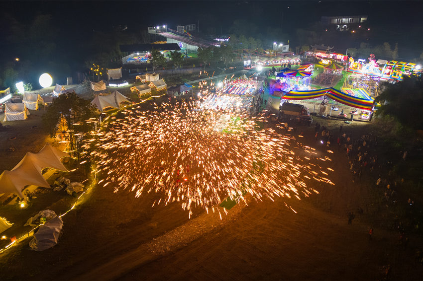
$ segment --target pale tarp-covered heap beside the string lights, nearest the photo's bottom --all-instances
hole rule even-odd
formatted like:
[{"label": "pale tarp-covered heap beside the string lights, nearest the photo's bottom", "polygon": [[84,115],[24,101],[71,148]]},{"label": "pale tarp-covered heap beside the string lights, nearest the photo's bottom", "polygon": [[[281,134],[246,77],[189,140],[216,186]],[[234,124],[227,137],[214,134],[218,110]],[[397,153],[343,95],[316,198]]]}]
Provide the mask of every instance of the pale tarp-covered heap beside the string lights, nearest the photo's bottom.
[{"label": "pale tarp-covered heap beside the string lights, nearest the photo's bottom", "polygon": [[56,216],[38,228],[34,238],[29,242],[29,247],[35,251],[44,251],[57,244],[60,231],[63,227],[63,220]]}]

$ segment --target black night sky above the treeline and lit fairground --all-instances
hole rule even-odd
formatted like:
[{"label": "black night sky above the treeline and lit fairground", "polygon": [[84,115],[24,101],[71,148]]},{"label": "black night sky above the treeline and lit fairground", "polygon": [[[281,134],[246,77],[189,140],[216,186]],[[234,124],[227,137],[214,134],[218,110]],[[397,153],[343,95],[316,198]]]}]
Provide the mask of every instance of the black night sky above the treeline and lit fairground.
[{"label": "black night sky above the treeline and lit fairground", "polygon": [[[38,14],[51,14],[60,34],[56,45],[70,53],[75,44],[89,41],[95,32],[108,32],[119,25],[138,32],[148,26],[167,24],[176,29],[179,24],[196,23],[202,33],[214,30],[217,35],[229,35],[237,19],[253,24],[261,34],[269,27],[283,29],[287,38],[280,40],[289,39],[295,49],[301,46],[296,42],[296,30],[310,28],[321,16],[368,15],[366,24],[372,32],[365,42],[373,46],[398,43],[399,59],[409,61],[423,52],[422,10],[422,1],[1,1],[0,21],[12,17],[28,24]],[[0,38],[7,38],[5,30],[0,29]],[[363,40],[338,40],[336,36],[327,45],[342,53],[345,48],[358,48]],[[264,48],[270,47],[262,41]],[[6,41],[0,42],[0,47],[8,51]]]}]

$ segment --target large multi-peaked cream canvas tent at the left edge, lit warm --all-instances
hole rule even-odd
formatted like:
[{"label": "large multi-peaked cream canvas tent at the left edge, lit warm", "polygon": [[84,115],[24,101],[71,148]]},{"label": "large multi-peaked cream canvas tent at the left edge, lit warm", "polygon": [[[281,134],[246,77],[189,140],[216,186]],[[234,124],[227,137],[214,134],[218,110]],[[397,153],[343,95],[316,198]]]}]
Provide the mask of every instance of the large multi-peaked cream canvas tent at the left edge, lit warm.
[{"label": "large multi-peaked cream canvas tent at the left edge, lit warm", "polygon": [[14,193],[23,198],[22,190],[27,185],[36,185],[50,188],[50,185],[41,174],[41,170],[50,167],[68,171],[60,158],[68,156],[51,144],[46,143],[38,153],[27,152],[20,162],[11,170],[3,171],[0,175],[0,194]]}]

